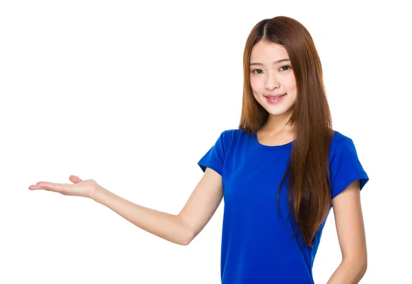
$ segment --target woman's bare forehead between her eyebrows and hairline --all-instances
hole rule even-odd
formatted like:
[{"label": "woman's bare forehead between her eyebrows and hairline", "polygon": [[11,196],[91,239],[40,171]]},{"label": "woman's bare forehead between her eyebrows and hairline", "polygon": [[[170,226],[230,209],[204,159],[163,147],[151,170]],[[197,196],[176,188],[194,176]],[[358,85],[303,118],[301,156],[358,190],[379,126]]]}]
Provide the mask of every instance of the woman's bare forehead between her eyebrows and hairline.
[{"label": "woman's bare forehead between her eyebrows and hairline", "polygon": [[288,51],[282,46],[276,43],[266,43],[260,40],[253,48],[251,52],[251,62],[256,61],[268,61],[288,58]]}]

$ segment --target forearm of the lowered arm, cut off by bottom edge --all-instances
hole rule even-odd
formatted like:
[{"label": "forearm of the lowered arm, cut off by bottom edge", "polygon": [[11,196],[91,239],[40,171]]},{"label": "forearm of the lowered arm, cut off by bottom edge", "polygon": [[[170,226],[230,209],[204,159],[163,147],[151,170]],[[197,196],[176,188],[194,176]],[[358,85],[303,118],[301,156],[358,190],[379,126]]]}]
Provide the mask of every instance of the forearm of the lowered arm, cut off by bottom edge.
[{"label": "forearm of the lowered arm, cut off by bottom edge", "polygon": [[357,284],[365,275],[366,261],[343,260],[330,277],[328,284]]}]

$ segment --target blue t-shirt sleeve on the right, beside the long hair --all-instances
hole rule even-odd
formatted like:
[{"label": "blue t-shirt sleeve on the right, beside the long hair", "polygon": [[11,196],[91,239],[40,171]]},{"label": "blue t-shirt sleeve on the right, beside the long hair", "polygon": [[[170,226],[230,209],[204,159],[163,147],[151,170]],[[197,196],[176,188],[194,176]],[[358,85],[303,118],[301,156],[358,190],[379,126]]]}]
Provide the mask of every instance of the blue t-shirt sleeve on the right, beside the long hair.
[{"label": "blue t-shirt sleeve on the right, beside the long hair", "polygon": [[360,180],[361,190],[369,177],[359,161],[354,142],[345,137],[336,145],[330,161],[332,199],[355,180]]}]

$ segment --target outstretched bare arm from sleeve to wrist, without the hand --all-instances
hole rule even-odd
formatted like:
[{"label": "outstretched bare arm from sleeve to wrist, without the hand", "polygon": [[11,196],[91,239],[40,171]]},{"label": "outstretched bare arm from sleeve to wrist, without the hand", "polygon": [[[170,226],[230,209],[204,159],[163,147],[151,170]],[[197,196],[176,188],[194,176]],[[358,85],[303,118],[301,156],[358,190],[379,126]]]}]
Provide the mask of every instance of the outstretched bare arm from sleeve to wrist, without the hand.
[{"label": "outstretched bare arm from sleeve to wrist, without the hand", "polygon": [[222,196],[222,177],[213,169],[206,168],[205,174],[178,215],[135,204],[100,185],[93,195],[93,200],[148,233],[174,244],[187,246],[214,215]]}]

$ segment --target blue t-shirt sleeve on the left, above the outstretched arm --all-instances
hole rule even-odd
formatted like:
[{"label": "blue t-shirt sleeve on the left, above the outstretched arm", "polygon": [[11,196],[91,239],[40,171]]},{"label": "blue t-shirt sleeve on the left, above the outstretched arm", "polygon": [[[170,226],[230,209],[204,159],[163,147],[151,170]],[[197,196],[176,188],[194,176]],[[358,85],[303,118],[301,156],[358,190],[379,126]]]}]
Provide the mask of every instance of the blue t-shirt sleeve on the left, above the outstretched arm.
[{"label": "blue t-shirt sleeve on the left, above the outstretched arm", "polygon": [[225,163],[225,151],[227,140],[227,130],[223,131],[216,143],[207,151],[205,156],[198,161],[199,167],[201,167],[202,171],[206,171],[206,167],[209,167],[216,171],[220,176],[222,176],[223,171],[223,163]]}]

